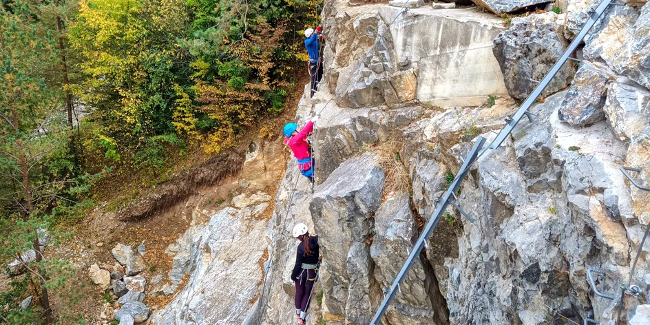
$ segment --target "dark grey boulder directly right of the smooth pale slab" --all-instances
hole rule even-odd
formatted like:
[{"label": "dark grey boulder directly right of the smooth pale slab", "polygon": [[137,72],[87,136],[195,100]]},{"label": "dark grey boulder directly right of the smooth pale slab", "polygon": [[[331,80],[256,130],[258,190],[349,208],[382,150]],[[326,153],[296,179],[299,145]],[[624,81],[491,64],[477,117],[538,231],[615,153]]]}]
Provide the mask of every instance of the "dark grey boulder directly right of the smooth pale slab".
[{"label": "dark grey boulder directly right of the smooth pale slab", "polygon": [[[512,27],[494,39],[494,56],[499,61],[508,94],[523,100],[560,59],[568,46],[554,12],[512,19]],[[546,97],[569,85],[576,68],[569,62],[558,71],[541,96]],[[532,80],[531,80],[532,79]]]}]

